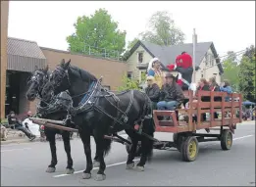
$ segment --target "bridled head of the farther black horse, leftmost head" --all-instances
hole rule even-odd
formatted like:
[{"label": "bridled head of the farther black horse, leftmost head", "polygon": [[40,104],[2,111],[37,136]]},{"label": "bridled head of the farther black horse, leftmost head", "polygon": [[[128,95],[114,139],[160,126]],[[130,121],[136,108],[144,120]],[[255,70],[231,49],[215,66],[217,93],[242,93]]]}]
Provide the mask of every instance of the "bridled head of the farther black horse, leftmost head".
[{"label": "bridled head of the farther black horse, leftmost head", "polygon": [[26,91],[26,98],[28,101],[34,101],[37,96],[41,97],[43,86],[48,81],[48,70],[49,68],[47,65],[44,69],[34,70],[32,75],[28,77],[28,89]]}]

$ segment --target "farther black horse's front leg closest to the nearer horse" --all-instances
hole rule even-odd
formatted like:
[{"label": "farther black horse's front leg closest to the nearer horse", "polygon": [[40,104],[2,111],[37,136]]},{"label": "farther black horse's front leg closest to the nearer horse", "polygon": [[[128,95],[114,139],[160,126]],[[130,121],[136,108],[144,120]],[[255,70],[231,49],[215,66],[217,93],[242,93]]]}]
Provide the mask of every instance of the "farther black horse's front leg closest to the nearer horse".
[{"label": "farther black horse's front leg closest to the nearer horse", "polygon": [[65,152],[67,154],[67,158],[68,158],[68,164],[67,164],[67,167],[66,167],[66,173],[67,174],[73,174],[75,169],[73,168],[73,159],[72,159],[72,156],[71,156],[71,140],[70,140],[70,133],[64,131],[62,133],[62,139],[63,139],[63,143],[64,143],[64,149],[65,149]]}]

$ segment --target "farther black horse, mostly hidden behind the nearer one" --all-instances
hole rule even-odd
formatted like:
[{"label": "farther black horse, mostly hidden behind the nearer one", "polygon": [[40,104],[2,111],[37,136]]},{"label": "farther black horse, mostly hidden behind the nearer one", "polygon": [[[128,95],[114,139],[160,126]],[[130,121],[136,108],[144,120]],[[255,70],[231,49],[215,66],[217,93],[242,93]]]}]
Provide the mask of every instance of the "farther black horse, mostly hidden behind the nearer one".
[{"label": "farther black horse, mostly hidden behind the nearer one", "polygon": [[[41,101],[39,106],[37,107],[40,109],[47,109],[48,102],[50,100],[44,100],[41,95],[41,91],[45,83],[48,81],[50,72],[48,71],[48,66],[45,69],[42,70],[35,70],[32,75],[29,77],[27,84],[28,89],[26,91],[26,98],[29,101],[34,101],[36,97],[38,97]],[[50,119],[65,119],[67,117],[67,113],[63,112],[54,112],[50,114],[43,114],[42,117],[44,118],[50,118]],[[71,143],[70,143],[70,132],[63,131],[55,128],[50,128],[45,126],[44,128],[45,136],[50,144],[51,149],[51,164],[48,165],[48,168],[46,169],[46,172],[55,172],[56,170],[56,164],[57,164],[57,154],[56,154],[56,134],[61,134],[63,143],[64,143],[64,149],[67,153],[68,157],[68,165],[67,165],[67,174],[74,173],[73,168],[73,159],[71,156]],[[97,162],[97,157],[94,158],[94,164],[95,166],[98,166],[99,163]]]}]

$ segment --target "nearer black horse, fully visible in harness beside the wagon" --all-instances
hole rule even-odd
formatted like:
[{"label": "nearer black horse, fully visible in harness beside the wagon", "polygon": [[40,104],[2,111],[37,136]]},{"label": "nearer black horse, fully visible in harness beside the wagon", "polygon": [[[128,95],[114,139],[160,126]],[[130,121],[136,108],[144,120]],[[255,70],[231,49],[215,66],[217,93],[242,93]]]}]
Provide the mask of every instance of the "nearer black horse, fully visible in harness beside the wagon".
[{"label": "nearer black horse, fully visible in harness beside the wagon", "polygon": [[105,90],[94,75],[70,66],[70,63],[71,61],[65,63],[63,60],[60,66],[51,73],[42,95],[44,98],[50,98],[52,94],[56,95],[64,90],[69,90],[73,97],[73,120],[78,125],[87,162],[82,178],[91,177],[90,133],[93,133],[100,162],[95,180],[106,178],[104,156],[110,151],[111,140],[104,139],[104,135],[115,135],[124,129],[132,142],[127,168],[134,166],[134,154],[140,140],[141,158],[136,168],[143,170],[147,158],[151,157],[153,141],[138,134],[134,130],[134,125],[140,124],[140,130],[153,136],[154,125],[152,124],[150,99],[145,93],[138,90],[114,95]]}]

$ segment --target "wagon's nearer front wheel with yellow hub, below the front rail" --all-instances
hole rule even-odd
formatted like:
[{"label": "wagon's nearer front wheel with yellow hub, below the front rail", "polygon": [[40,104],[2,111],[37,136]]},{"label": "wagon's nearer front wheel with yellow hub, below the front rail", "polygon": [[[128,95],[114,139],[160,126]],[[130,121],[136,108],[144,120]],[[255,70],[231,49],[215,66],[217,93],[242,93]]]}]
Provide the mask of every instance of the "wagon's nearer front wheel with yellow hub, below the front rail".
[{"label": "wagon's nearer front wheel with yellow hub, below the front rail", "polygon": [[193,162],[198,155],[198,141],[194,136],[184,137],[181,144],[181,156],[185,162]]}]

